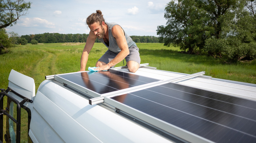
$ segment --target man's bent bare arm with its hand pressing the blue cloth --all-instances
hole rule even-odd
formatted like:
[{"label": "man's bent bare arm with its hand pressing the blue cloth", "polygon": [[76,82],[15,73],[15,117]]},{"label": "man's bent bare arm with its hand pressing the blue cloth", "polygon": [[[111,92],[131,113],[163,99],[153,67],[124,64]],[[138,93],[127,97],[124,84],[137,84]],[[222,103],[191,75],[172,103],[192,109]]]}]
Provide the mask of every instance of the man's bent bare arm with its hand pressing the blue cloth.
[{"label": "man's bent bare arm with its hand pressing the blue cloth", "polygon": [[108,70],[110,67],[121,62],[130,53],[123,29],[119,25],[115,25],[112,28],[112,34],[113,34],[114,38],[116,39],[117,45],[121,49],[121,51],[109,63],[107,63],[106,65],[103,65],[99,68],[96,68],[96,70],[98,70],[98,71]]}]

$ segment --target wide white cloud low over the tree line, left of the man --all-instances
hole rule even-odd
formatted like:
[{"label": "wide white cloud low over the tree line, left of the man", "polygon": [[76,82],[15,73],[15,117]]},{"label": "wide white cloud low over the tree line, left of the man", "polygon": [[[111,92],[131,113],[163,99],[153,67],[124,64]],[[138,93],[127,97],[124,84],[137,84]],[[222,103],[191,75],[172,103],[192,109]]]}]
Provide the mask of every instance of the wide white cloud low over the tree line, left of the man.
[{"label": "wide white cloud low over the tree line, left of the man", "polygon": [[21,26],[24,27],[47,27],[47,28],[55,28],[55,24],[47,21],[46,19],[41,19],[38,17],[34,18],[21,18],[22,21]]}]

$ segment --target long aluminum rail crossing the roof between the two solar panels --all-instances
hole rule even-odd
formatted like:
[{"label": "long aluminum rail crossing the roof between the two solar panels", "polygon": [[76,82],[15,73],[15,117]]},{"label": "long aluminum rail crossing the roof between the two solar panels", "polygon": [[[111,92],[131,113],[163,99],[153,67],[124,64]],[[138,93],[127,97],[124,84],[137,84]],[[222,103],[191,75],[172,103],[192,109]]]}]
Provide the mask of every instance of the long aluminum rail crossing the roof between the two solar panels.
[{"label": "long aluminum rail crossing the roof between the two solar panels", "polygon": [[89,104],[93,105],[93,104],[102,103],[102,102],[104,102],[104,97],[114,97],[114,96],[118,96],[118,95],[122,95],[122,94],[127,94],[127,93],[130,93],[130,92],[135,92],[135,91],[139,91],[139,90],[142,90],[142,89],[147,89],[147,88],[150,88],[150,87],[163,85],[163,84],[166,84],[168,82],[177,82],[177,81],[181,81],[181,80],[187,80],[187,79],[197,77],[197,76],[200,76],[200,75],[203,75],[203,74],[205,74],[205,71],[201,71],[201,72],[197,72],[197,73],[177,77],[177,78],[174,78],[174,79],[160,80],[160,81],[147,83],[147,84],[136,86],[136,87],[130,87],[130,88],[126,88],[126,89],[122,89],[122,90],[118,90],[118,91],[113,91],[113,92],[101,94],[100,97],[89,99]]}]

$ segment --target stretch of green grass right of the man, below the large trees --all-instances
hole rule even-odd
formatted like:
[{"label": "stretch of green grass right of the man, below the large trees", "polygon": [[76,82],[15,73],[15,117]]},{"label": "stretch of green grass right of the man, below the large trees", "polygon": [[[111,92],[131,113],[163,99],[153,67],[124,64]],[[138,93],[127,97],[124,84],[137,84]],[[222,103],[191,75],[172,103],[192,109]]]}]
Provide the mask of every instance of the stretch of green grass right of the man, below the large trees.
[{"label": "stretch of green grass right of the man, below the large trees", "polygon": [[220,59],[204,55],[182,54],[177,47],[160,43],[138,43],[141,63],[149,63],[159,70],[181,73],[205,71],[205,75],[256,84],[256,61],[225,64]]}]

